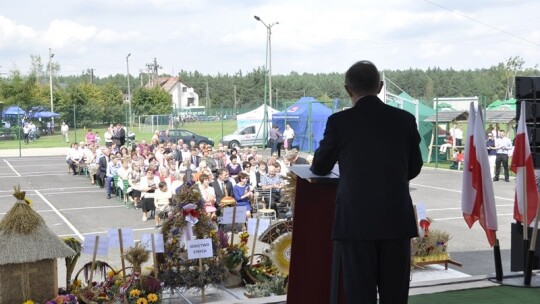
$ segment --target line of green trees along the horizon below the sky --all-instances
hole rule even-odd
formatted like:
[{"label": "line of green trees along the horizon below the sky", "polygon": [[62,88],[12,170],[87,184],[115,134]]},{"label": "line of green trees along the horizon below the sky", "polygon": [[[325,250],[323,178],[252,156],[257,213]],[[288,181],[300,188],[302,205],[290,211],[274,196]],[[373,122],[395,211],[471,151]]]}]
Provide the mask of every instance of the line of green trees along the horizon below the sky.
[{"label": "line of green trees along the horizon below the sky", "polygon": [[[50,107],[49,66],[41,63],[39,56],[30,57],[31,68],[27,74],[17,69],[0,78],[0,102],[5,106],[19,105],[23,109],[33,106]],[[61,75],[59,63],[51,63],[53,78],[54,111],[60,119],[77,124],[114,123],[126,121],[126,75],[94,77],[91,71],[80,75]],[[387,88],[391,93],[402,91],[431,106],[435,97],[481,96],[488,104],[497,99],[513,97],[516,75],[539,75],[537,67],[526,68],[520,57],[510,57],[490,68],[474,70],[442,69],[384,70]],[[267,73],[264,67],[234,74],[203,75],[198,71],[181,70],[178,75],[186,85],[199,94],[199,105],[210,109],[251,109],[265,100]],[[168,77],[171,75],[160,75]],[[273,75],[272,99],[275,108],[283,109],[302,96],[313,96],[322,102],[334,99],[339,106],[350,101],[343,88],[343,73],[297,73]],[[172,112],[171,96],[159,88],[147,88],[149,76],[130,75],[131,114],[169,114]]]}]

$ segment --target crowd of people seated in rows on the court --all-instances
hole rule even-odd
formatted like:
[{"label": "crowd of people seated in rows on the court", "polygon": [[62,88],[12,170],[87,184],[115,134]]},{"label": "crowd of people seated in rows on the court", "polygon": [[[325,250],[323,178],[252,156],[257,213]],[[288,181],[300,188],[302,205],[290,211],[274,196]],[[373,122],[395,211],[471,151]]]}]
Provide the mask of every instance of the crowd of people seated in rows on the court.
[{"label": "crowd of people seated in rows on the court", "polygon": [[[142,221],[152,217],[156,227],[160,216],[166,216],[169,202],[184,185],[195,185],[204,200],[206,214],[213,219],[224,207],[224,197],[232,197],[237,206],[272,208],[278,214],[284,177],[292,164],[308,164],[295,149],[279,158],[263,157],[257,147],[228,150],[196,145],[183,140],[173,143],[153,139],[118,147],[114,142],[100,146],[96,142],[71,145],[66,162],[73,175],[90,177],[92,184],[106,190],[106,198],[118,196],[126,207],[142,210]],[[157,214],[152,216],[153,214]]]}]

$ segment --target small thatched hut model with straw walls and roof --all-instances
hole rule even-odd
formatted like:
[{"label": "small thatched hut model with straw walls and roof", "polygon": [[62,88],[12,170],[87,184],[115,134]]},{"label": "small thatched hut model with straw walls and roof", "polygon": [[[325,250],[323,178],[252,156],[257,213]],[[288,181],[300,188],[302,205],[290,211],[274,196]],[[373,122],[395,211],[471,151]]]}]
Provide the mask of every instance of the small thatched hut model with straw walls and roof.
[{"label": "small thatched hut model with straw walls and roof", "polygon": [[15,205],[0,222],[0,304],[42,303],[58,293],[56,259],[75,252],[62,242],[15,188]]}]

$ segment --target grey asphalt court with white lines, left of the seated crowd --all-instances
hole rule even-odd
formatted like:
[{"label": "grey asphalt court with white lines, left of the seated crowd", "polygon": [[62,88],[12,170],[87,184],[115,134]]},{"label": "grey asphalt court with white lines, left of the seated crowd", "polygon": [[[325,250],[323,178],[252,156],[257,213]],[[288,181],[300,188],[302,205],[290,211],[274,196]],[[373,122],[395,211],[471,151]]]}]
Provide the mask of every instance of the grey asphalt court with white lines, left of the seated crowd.
[{"label": "grey asphalt court with white lines, left of the seated crowd", "polygon": [[20,184],[34,209],[59,236],[105,234],[110,228],[133,228],[134,237],[157,232],[154,221],[142,222],[142,211],[106,198],[90,178],[67,173],[63,156],[3,158],[0,161],[0,218],[13,206],[13,186]]}]

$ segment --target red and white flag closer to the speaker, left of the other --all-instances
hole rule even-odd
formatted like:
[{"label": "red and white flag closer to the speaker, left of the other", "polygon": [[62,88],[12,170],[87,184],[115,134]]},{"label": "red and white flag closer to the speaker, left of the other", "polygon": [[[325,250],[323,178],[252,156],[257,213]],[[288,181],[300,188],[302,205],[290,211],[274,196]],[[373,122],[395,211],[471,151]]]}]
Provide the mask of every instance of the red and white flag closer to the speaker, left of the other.
[{"label": "red and white flag closer to the speaker, left of the other", "polygon": [[[486,149],[486,134],[484,131],[484,122],[482,112],[474,112],[471,104],[471,112],[469,115],[474,115],[474,131],[471,137],[469,155],[465,156],[468,159],[468,166],[464,167],[464,171],[470,172],[470,185],[465,185],[467,188],[463,192],[471,191],[474,193],[474,200],[462,201],[462,211],[465,222],[472,227],[474,222],[479,221],[480,226],[484,228],[489,244],[493,247],[495,244],[495,232],[498,229],[497,225],[497,209],[495,205],[495,194],[493,192],[493,183],[491,181],[491,173],[489,170],[489,160]],[[470,120],[469,120],[470,122]],[[469,132],[467,132],[469,133]],[[467,153],[467,151],[466,151]],[[464,179],[465,179],[464,173]],[[464,208],[465,207],[465,208]]]}]

